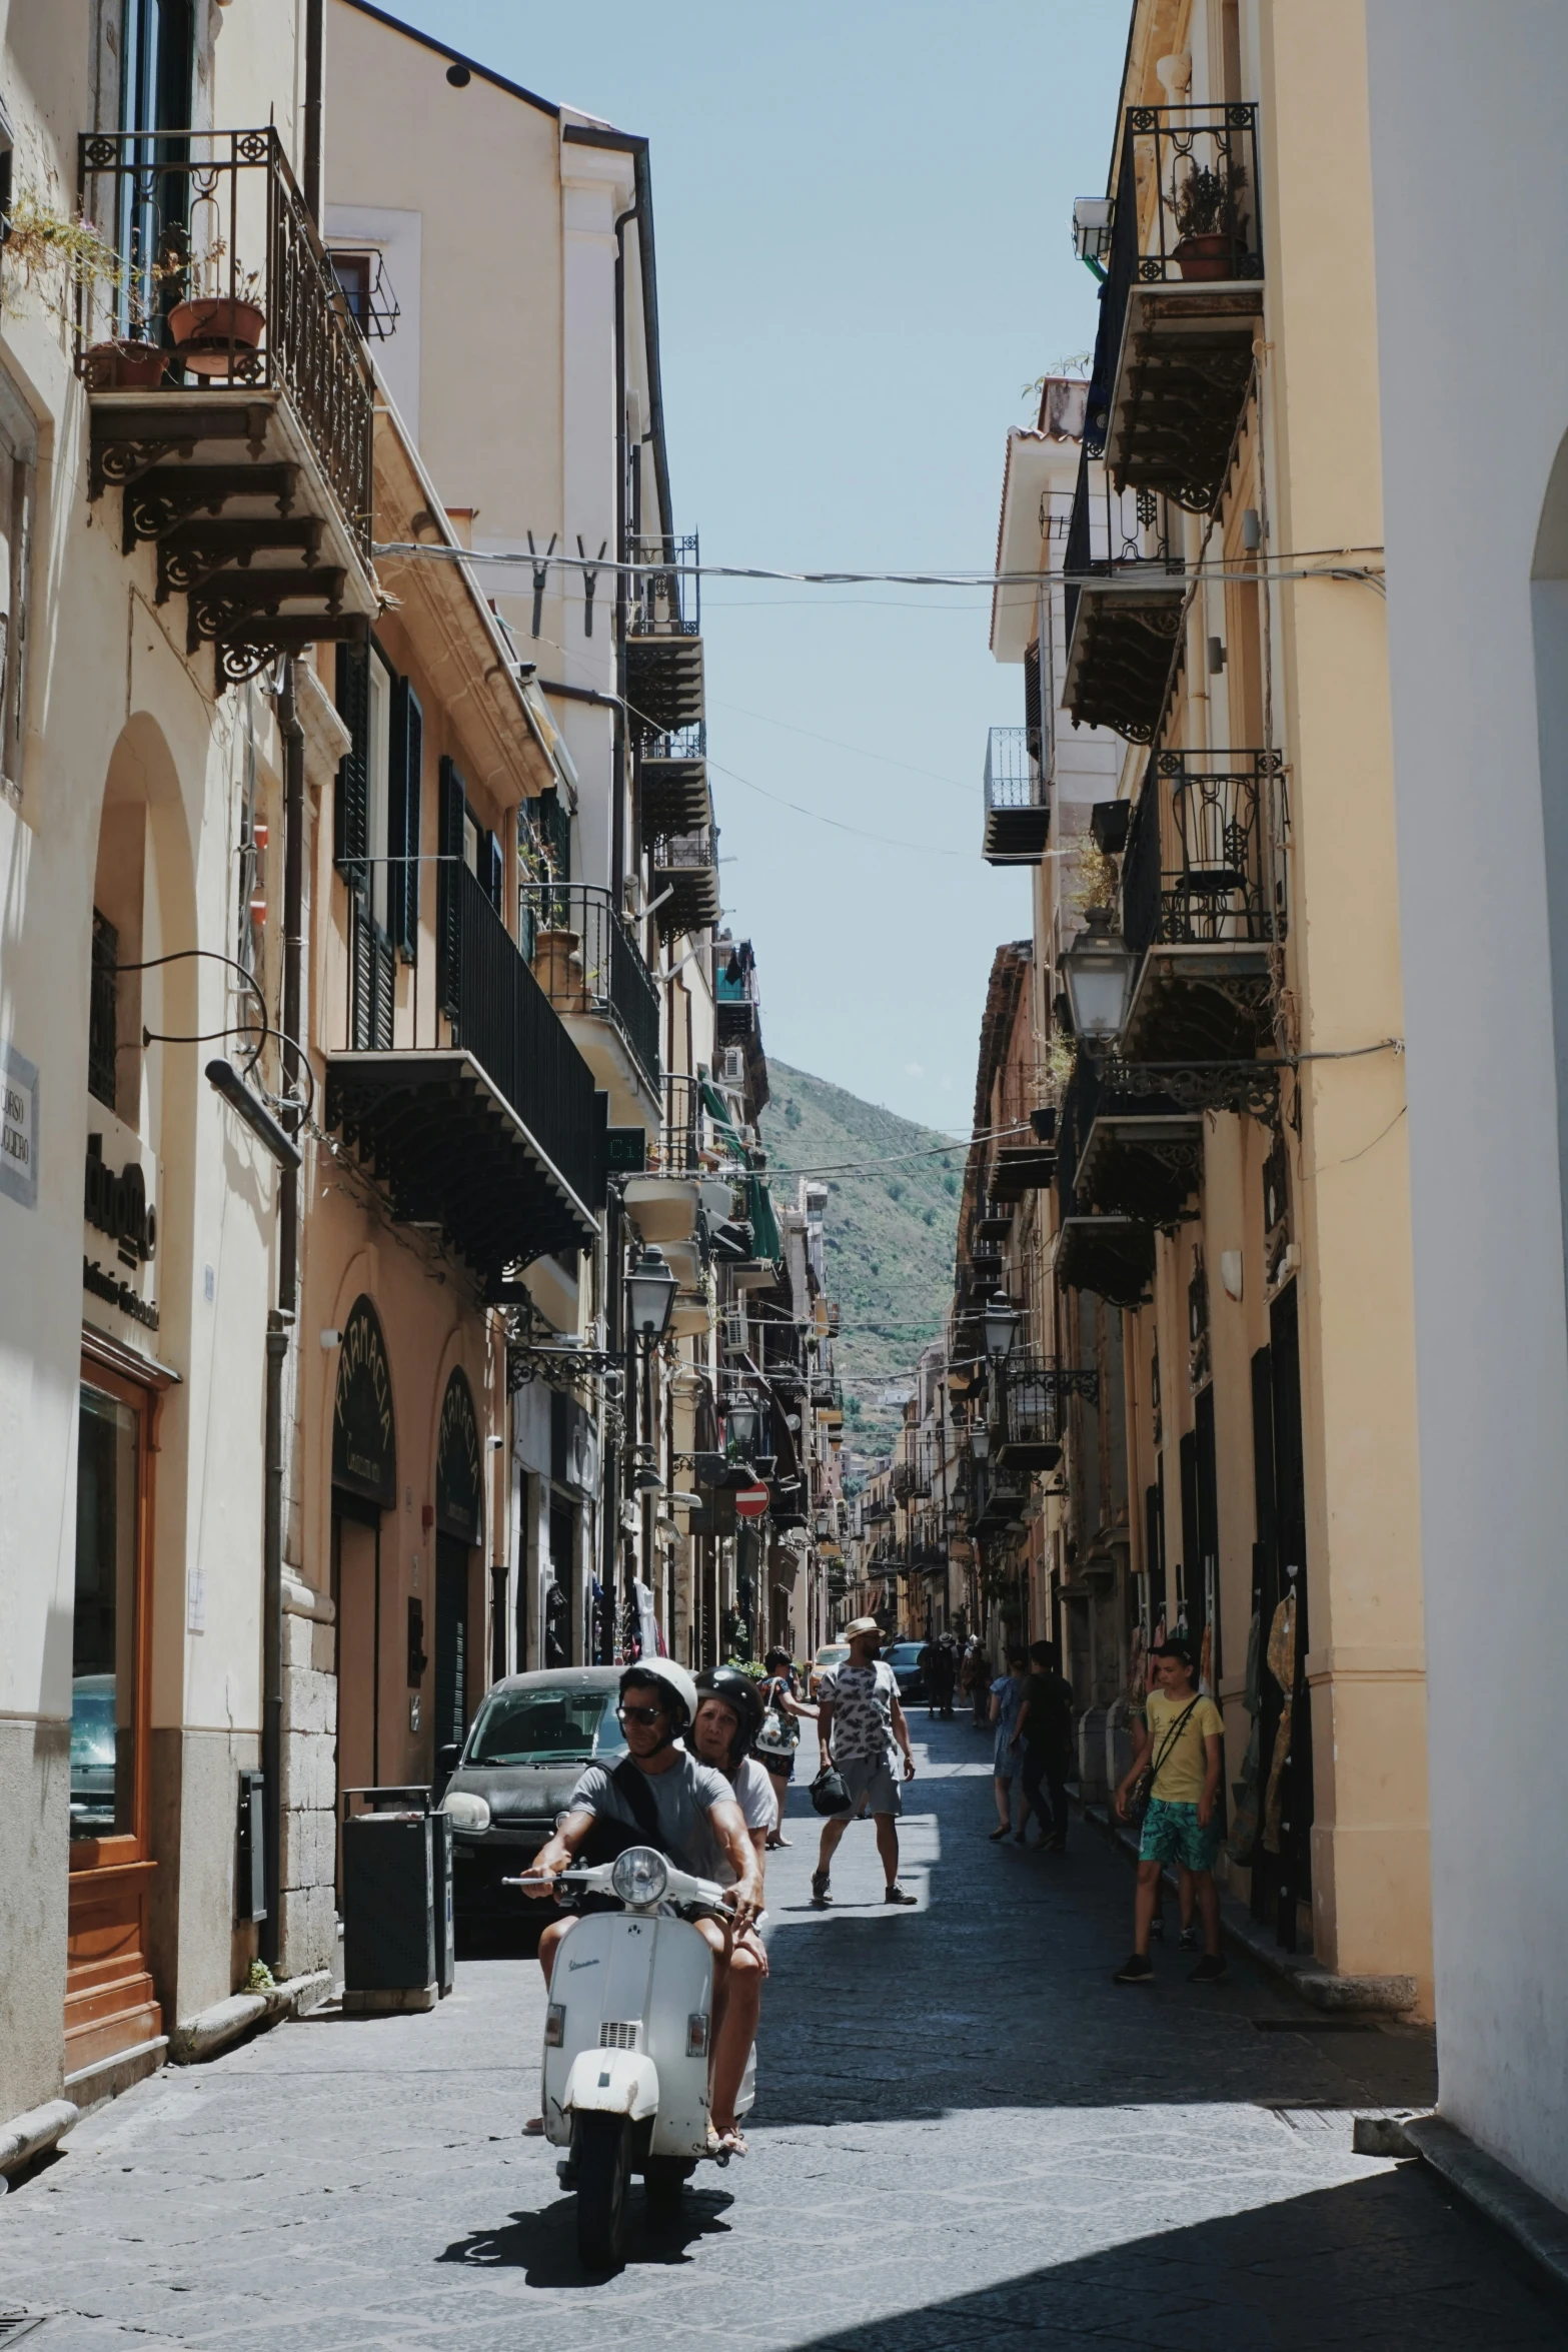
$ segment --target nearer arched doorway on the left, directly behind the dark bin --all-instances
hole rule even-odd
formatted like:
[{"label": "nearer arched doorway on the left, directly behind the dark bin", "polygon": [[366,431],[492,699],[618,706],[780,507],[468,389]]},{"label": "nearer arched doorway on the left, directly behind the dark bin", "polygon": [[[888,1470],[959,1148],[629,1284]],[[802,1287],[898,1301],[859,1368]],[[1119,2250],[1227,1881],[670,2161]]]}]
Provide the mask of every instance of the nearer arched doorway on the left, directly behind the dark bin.
[{"label": "nearer arched doorway on the left, directly behind the dark bin", "polygon": [[339,1790],[381,1780],[381,1515],[397,1508],[397,1425],[381,1317],[355,1298],[331,1414]]}]

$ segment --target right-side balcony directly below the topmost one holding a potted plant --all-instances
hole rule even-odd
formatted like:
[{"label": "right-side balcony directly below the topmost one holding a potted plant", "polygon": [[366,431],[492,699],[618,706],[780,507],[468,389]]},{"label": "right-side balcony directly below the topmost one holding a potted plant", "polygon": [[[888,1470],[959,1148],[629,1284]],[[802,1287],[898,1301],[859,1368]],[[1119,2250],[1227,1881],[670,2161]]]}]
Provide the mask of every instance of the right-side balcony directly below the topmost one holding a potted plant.
[{"label": "right-side balcony directly below the topmost one holding a potted plant", "polygon": [[1084,449],[1063,564],[1063,708],[1074,727],[1110,727],[1128,743],[1154,739],[1182,600],[1166,501],[1150,489],[1117,492],[1105,475],[1091,480]]}]

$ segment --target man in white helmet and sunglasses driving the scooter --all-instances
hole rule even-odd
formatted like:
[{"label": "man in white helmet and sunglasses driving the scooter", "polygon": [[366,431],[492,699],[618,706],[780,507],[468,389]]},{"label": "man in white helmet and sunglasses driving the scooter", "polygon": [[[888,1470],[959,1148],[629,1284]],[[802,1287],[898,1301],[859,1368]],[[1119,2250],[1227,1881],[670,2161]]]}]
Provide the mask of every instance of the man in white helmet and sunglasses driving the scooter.
[{"label": "man in white helmet and sunglasses driving the scooter", "polygon": [[[762,1865],[731,1783],[679,1743],[696,1710],[696,1684],[684,1665],[672,1658],[628,1665],[618,1708],[628,1755],[614,1771],[588,1766],[571,1792],[564,1823],[534,1860],[534,1879],[541,1884],[529,1886],[529,1893],[548,1898],[550,1879],[576,1860],[599,1825],[623,1844],[656,1846],[677,1870],[731,1884],[733,1929],[717,1919],[696,1919],[693,1926],[712,1947],[710,2124],[717,2150],[745,2154],[736,2096],[757,2025],[762,1969],[743,1936],[762,1910]],[[552,1919],[538,1938],[545,1987],[574,1926],[576,1919]],[[543,2131],[543,2117],[527,2129]]]}]

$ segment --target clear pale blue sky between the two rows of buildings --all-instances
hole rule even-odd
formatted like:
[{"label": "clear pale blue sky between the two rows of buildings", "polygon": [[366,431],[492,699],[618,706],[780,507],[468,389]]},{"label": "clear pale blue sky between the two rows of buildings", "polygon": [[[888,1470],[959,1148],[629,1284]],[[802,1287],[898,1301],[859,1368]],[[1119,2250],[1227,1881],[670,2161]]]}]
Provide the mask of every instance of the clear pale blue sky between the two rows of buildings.
[{"label": "clear pale blue sky between the two rows of buildings", "polygon": [[[383,0],[388,5],[388,0]],[[1023,388],[1093,341],[1126,0],[390,0],[651,141],[675,527],[705,562],[990,572]],[[726,920],[764,1047],[969,1131],[992,950],[990,595],[703,583]],[[795,807],[790,807],[795,804]],[[797,814],[806,809],[811,814]]]}]

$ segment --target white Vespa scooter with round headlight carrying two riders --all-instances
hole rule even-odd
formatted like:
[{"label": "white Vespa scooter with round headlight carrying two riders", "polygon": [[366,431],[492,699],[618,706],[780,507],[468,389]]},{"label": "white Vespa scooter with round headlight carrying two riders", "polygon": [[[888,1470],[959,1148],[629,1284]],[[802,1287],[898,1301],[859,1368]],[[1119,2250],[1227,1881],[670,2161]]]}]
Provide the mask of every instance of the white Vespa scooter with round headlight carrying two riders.
[{"label": "white Vespa scooter with round headlight carrying two riders", "polygon": [[[508,1879],[524,1891],[538,1877]],[[564,1893],[614,1896],[618,1912],[588,1912],[555,1957],[545,2011],[545,2138],[567,2150],[562,2187],[576,2187],[578,2253],[618,2270],[625,2187],[642,2173],[651,2199],[677,2199],[708,2147],[712,1950],[693,1917],[729,1905],[712,1879],[686,1877],[654,1846],[614,1863],[562,1870]],[[663,1912],[661,1912],[663,1905]],[[736,2107],[755,2098],[757,2051]],[[729,2164],[729,2154],[717,2157]]]}]

